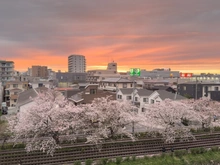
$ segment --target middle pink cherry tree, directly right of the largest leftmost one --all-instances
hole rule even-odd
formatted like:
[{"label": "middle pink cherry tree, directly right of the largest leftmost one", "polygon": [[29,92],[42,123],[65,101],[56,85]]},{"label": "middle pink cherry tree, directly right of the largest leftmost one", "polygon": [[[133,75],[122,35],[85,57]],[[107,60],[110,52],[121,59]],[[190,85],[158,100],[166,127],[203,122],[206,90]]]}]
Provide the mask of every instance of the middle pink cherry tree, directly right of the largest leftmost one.
[{"label": "middle pink cherry tree, directly right of the largest leftmost one", "polygon": [[134,115],[134,107],[131,102],[119,102],[109,97],[96,98],[91,104],[84,105],[81,126],[87,136],[89,143],[101,143],[105,139],[116,135],[126,135],[134,139],[133,135],[126,129],[133,121],[138,121]]}]

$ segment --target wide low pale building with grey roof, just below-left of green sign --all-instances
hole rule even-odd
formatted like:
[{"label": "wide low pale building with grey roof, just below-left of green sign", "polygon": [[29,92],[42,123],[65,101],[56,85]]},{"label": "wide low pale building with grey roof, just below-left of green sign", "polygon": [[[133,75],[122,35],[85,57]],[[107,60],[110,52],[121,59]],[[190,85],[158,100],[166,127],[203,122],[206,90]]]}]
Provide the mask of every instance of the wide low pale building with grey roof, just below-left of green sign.
[{"label": "wide low pale building with grey roof, just below-left of green sign", "polygon": [[125,78],[106,78],[99,82],[99,88],[102,90],[116,91],[119,88],[134,88],[134,83]]}]

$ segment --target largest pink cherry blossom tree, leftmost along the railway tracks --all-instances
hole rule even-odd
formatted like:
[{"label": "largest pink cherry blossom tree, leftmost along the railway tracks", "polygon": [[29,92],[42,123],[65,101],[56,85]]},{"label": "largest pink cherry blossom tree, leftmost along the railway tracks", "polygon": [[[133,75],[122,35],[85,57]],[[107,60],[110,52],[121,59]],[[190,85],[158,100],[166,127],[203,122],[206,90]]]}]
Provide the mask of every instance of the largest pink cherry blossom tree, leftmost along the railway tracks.
[{"label": "largest pink cherry blossom tree, leftmost along the railway tracks", "polygon": [[15,141],[25,139],[28,152],[42,150],[53,154],[60,147],[61,135],[75,138],[81,110],[68,102],[61,93],[48,90],[39,93],[31,108],[10,118],[9,128]]}]

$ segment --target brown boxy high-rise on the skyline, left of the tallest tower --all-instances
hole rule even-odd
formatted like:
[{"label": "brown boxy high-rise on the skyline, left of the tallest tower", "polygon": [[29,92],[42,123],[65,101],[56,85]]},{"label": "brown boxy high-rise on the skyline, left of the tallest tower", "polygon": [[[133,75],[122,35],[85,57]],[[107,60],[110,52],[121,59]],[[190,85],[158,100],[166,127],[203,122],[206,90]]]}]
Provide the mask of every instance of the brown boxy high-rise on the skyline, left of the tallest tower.
[{"label": "brown boxy high-rise on the skyline, left of the tallest tower", "polygon": [[31,73],[32,73],[31,74],[32,77],[41,77],[41,78],[48,77],[47,66],[32,66]]}]

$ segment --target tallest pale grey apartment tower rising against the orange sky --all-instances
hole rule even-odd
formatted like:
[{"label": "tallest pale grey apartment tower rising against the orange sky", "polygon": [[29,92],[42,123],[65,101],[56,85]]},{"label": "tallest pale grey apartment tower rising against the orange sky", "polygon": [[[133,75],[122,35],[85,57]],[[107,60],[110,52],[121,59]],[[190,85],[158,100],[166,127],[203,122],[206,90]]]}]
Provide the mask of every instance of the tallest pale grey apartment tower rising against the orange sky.
[{"label": "tallest pale grey apartment tower rising against the orange sky", "polygon": [[70,73],[85,73],[86,59],[82,55],[70,55],[68,57],[68,72]]}]

